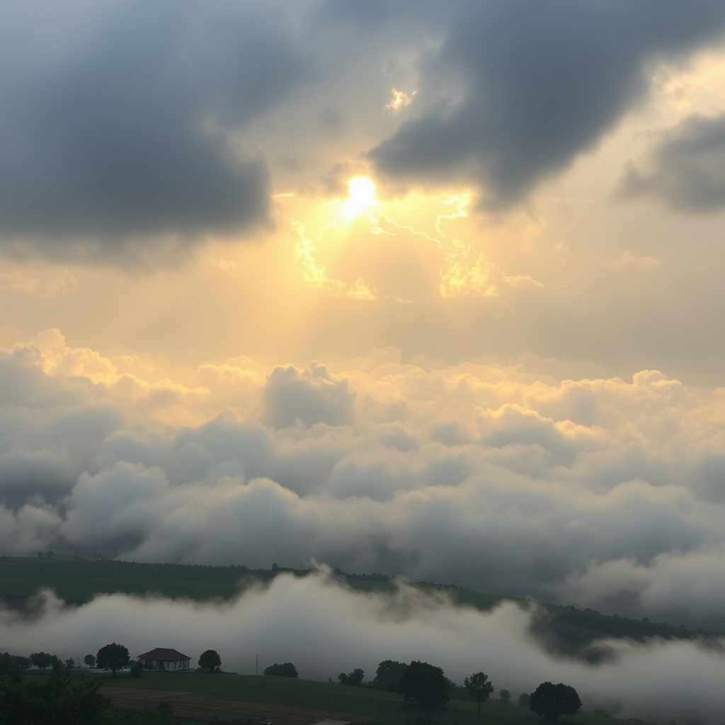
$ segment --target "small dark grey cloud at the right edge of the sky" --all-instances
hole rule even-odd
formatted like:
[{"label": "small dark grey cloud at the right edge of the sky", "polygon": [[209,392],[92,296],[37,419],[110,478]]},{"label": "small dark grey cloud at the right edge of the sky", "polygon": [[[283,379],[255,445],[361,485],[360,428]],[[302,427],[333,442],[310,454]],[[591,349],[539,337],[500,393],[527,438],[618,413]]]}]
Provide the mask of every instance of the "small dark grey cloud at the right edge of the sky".
[{"label": "small dark grey cloud at the right edge of the sky", "polygon": [[627,168],[618,195],[658,199],[680,211],[725,207],[725,114],[693,115],[666,131],[643,167]]}]

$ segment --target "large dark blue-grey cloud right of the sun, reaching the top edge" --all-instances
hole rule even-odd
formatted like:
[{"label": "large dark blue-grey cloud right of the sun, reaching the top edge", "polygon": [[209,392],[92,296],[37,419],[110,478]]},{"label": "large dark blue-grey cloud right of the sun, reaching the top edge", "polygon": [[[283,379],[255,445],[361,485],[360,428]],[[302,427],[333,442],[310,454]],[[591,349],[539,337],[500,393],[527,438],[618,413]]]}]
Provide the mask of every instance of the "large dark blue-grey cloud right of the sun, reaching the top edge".
[{"label": "large dark blue-grey cloud right of the sun, reaching the top edge", "polygon": [[489,207],[565,170],[645,98],[653,62],[682,59],[725,27],[725,6],[704,2],[454,8],[423,67],[416,102],[428,106],[369,155],[378,172],[410,183],[480,183]]}]

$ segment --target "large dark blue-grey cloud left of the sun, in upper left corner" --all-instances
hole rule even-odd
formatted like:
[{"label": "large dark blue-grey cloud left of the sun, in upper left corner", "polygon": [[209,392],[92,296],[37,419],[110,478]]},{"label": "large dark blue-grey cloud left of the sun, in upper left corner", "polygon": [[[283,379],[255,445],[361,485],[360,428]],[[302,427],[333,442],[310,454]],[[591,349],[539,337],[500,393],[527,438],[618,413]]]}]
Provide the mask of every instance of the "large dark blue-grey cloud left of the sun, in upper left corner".
[{"label": "large dark blue-grey cloud left of the sun, in upper left corner", "polygon": [[49,48],[21,24],[0,75],[5,249],[114,256],[130,238],[268,224],[265,162],[229,134],[307,72],[278,9],[119,4]]}]

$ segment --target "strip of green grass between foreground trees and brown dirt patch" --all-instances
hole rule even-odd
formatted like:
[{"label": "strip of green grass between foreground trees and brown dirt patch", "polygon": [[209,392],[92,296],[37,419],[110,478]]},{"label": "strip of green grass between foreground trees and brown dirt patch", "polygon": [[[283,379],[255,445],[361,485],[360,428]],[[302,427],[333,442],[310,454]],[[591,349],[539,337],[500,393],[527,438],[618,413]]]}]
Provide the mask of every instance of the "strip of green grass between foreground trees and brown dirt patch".
[{"label": "strip of green grass between foreground trees and brown dirt patch", "polygon": [[[42,676],[42,675],[35,675]],[[450,700],[434,711],[425,711],[418,705],[406,703],[402,695],[367,687],[346,687],[330,682],[270,677],[237,675],[231,673],[209,674],[191,671],[188,673],[146,672],[141,678],[131,678],[126,672],[96,673],[102,679],[103,687],[144,687],[149,689],[199,692],[204,695],[226,695],[242,697],[268,703],[284,703],[302,707],[325,708],[327,710],[355,713],[368,716],[375,721],[400,725],[476,725],[476,703],[471,700]],[[561,716],[560,723],[576,725],[605,725],[613,718],[603,718],[586,713],[576,716]],[[516,723],[541,723],[541,718],[518,705],[484,703],[481,705],[483,725],[514,725]]]}]

